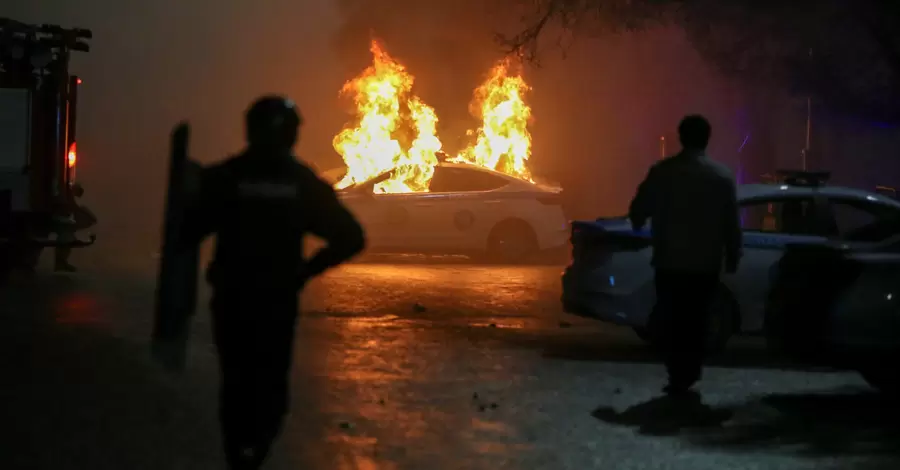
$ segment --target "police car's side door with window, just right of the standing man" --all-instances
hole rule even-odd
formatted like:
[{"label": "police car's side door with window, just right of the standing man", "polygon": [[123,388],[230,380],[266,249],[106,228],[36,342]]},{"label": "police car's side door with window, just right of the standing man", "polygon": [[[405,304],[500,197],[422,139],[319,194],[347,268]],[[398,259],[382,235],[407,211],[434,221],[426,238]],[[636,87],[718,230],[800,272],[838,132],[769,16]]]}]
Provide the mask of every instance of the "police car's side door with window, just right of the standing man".
[{"label": "police car's side door with window, just right of the standing man", "polygon": [[724,278],[740,306],[742,329],[763,326],[770,280],[788,243],[824,242],[829,233],[816,198],[755,199],[741,203],[744,255],[738,271]]}]

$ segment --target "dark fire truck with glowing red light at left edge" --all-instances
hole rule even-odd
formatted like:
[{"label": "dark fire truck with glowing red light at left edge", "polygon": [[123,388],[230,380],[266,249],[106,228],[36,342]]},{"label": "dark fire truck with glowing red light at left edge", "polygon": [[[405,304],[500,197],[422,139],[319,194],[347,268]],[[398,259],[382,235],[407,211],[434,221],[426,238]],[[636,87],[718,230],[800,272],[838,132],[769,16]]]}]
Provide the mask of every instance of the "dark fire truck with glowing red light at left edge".
[{"label": "dark fire truck with glowing red light at left edge", "polygon": [[55,234],[74,223],[76,116],[81,79],[73,52],[88,52],[86,29],[0,18],[0,282],[33,269],[46,247],[94,242]]}]

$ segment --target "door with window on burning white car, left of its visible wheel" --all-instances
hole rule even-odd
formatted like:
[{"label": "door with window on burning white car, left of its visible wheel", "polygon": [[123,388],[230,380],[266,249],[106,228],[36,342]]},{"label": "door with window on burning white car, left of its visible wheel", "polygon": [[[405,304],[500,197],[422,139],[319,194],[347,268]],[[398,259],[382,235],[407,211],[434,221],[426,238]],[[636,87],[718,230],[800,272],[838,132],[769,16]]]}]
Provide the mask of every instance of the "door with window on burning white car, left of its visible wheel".
[{"label": "door with window on burning white car, left of its visible wheel", "polygon": [[509,199],[491,197],[509,184],[478,168],[437,167],[431,181],[430,241],[435,249],[472,251],[484,248],[490,229]]}]

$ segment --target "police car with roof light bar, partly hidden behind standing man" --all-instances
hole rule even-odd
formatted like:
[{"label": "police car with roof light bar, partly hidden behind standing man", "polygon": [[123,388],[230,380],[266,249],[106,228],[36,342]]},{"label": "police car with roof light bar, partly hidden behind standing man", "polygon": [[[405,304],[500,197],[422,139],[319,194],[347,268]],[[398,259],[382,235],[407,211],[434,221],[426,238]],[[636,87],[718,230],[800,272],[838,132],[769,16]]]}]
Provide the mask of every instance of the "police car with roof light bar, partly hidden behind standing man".
[{"label": "police car with roof light bar, partly hidden behind standing man", "polygon": [[[709,346],[735,333],[761,333],[771,277],[785,247],[840,241],[868,224],[900,217],[900,202],[824,182],[827,173],[781,172],[783,183],[738,187],[744,256],[722,277],[709,325]],[[652,223],[652,221],[650,222]],[[658,338],[649,230],[634,232],[625,217],[576,221],[572,263],[562,276],[566,312],[635,329]]]}]

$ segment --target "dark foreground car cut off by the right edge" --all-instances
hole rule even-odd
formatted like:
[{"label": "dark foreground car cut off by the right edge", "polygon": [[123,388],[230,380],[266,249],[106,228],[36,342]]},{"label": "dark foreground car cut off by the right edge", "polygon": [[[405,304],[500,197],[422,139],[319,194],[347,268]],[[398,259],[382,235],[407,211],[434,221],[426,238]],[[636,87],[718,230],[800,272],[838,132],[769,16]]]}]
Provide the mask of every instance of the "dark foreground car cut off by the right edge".
[{"label": "dark foreground car cut off by the right edge", "polygon": [[900,219],[833,243],[789,245],[774,271],[765,330],[775,352],[858,370],[900,394]]}]

